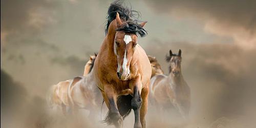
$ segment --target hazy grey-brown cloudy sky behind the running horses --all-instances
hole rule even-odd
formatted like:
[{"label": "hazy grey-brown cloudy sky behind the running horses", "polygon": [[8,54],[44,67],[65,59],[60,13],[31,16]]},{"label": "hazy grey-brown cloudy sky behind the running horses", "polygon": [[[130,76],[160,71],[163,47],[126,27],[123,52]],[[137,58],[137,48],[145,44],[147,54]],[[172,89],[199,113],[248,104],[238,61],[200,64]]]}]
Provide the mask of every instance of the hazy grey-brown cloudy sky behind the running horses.
[{"label": "hazy grey-brown cloudy sky behind the running horses", "polygon": [[[1,0],[1,81],[2,73],[8,76],[1,92],[11,83],[32,100],[26,102],[44,100],[52,84],[82,75],[89,55],[98,52],[104,39],[111,2]],[[148,22],[148,35],[138,42],[157,57],[165,73],[165,55],[182,50],[182,73],[194,101],[191,115],[209,117],[196,122],[255,114],[249,110],[256,104],[251,102],[256,91],[256,1],[124,3]],[[11,94],[16,93],[5,92]]]}]

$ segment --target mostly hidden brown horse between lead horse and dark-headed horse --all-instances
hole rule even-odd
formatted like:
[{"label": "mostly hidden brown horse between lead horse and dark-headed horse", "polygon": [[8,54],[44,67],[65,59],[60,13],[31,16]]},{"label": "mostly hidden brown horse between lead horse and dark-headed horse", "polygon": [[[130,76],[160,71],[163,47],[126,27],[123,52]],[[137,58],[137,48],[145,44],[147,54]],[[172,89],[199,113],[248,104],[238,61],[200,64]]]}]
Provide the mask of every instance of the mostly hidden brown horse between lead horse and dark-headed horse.
[{"label": "mostly hidden brown horse between lead horse and dark-headed horse", "polygon": [[158,63],[156,57],[150,56],[150,55],[148,55],[147,57],[151,63],[151,69],[152,69],[151,78],[155,75],[164,74],[164,72],[160,66],[160,63]]}]

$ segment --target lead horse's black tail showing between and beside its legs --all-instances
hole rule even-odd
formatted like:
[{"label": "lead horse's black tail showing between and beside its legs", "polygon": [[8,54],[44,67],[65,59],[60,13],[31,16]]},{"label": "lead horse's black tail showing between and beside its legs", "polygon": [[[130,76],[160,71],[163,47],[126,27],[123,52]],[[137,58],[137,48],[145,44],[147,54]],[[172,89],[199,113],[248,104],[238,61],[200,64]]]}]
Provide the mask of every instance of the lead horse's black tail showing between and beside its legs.
[{"label": "lead horse's black tail showing between and beside its legs", "polygon": [[[126,116],[128,116],[131,113],[132,110],[132,95],[120,95],[117,97],[117,109],[124,119]],[[111,113],[110,111],[106,115],[103,122],[106,122],[108,124],[112,124],[113,121],[111,119]]]}]

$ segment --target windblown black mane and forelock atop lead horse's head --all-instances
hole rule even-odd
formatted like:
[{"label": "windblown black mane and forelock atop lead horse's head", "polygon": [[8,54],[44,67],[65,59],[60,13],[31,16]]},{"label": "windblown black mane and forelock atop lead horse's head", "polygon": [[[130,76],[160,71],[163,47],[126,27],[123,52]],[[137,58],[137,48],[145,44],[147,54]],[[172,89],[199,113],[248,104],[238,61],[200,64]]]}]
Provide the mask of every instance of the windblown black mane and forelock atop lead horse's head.
[{"label": "windblown black mane and forelock atop lead horse's head", "polygon": [[119,16],[124,22],[127,24],[123,26],[122,28],[117,29],[116,31],[123,31],[125,33],[133,33],[136,35],[139,35],[141,37],[146,36],[147,32],[145,29],[141,27],[140,24],[138,24],[139,20],[139,12],[132,10],[131,8],[123,7],[123,2],[120,0],[117,0],[110,4],[109,10],[108,10],[108,16],[107,23],[105,27],[105,34],[108,33],[108,29],[110,26],[110,23],[116,19],[116,13],[119,13]]}]

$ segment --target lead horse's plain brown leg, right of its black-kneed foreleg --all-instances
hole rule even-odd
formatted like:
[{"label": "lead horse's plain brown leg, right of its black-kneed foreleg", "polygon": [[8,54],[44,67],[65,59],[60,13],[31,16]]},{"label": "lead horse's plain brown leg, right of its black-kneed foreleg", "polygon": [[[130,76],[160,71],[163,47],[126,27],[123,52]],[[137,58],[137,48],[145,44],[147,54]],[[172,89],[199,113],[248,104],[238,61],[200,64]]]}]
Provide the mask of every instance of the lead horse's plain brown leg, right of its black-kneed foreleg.
[{"label": "lead horse's plain brown leg, right of its black-kneed foreleg", "polygon": [[140,122],[143,128],[146,127],[146,113],[147,113],[147,104],[148,104],[148,91],[149,89],[144,87],[141,91],[142,104],[140,108]]}]

